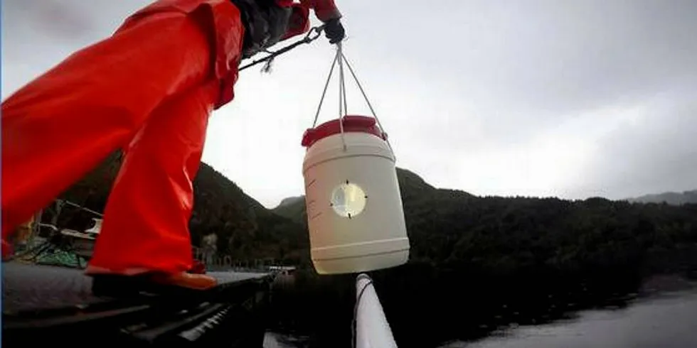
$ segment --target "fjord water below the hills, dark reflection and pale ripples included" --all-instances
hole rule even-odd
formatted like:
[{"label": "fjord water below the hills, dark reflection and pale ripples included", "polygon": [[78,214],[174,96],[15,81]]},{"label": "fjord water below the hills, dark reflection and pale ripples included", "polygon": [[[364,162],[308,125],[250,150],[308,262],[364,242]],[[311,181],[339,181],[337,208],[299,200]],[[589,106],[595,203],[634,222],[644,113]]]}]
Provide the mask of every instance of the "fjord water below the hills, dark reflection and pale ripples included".
[{"label": "fjord water below the hills, dark reflection and pale ripples included", "polygon": [[[400,348],[697,347],[697,325],[691,325],[697,322],[697,290],[691,293],[693,281],[682,276],[637,279],[615,272],[578,282],[531,275],[496,283],[469,275],[463,287],[455,276],[428,275],[398,274],[377,283]],[[326,282],[314,291],[304,284],[302,291],[275,293],[272,312],[279,325],[270,329],[306,338],[267,348],[350,347],[346,328],[354,297],[346,289],[352,279]],[[669,292],[679,295],[661,295]]]}]

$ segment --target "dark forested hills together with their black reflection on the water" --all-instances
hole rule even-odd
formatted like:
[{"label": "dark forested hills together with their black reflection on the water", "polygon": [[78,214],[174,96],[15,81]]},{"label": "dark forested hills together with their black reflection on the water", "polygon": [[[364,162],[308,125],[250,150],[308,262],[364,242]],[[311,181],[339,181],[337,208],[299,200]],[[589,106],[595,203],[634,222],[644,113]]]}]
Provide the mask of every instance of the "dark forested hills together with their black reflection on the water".
[{"label": "dark forested hills together with their black reflection on the water", "polygon": [[[101,210],[117,168],[114,156],[65,197]],[[399,347],[622,306],[647,277],[697,270],[697,205],[477,197],[408,170],[398,178],[410,262],[371,276]],[[273,296],[274,330],[309,335],[310,347],[349,347],[354,276],[317,276],[307,262],[302,197],[266,210],[205,164],[195,185],[194,244],[213,233],[221,254],[300,264],[294,287]]]}]

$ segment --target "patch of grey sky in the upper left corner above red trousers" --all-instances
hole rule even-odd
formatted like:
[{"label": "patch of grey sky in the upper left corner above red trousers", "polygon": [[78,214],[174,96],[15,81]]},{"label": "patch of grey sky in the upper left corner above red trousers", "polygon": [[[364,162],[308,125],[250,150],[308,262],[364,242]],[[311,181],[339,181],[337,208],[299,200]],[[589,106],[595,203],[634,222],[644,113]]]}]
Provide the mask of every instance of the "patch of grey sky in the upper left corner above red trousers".
[{"label": "patch of grey sky in the upper left corner above red trousers", "polygon": [[74,50],[110,36],[146,0],[4,0],[2,97]]}]

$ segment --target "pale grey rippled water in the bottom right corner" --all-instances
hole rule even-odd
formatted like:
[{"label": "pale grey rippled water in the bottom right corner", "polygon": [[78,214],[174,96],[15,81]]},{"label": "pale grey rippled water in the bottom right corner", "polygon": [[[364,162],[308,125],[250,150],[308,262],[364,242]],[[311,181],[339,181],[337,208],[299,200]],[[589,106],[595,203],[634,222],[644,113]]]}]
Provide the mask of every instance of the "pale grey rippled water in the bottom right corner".
[{"label": "pale grey rippled water in the bottom right corner", "polygon": [[575,319],[497,330],[478,342],[442,348],[697,347],[697,292],[636,300],[626,308],[590,310]]}]

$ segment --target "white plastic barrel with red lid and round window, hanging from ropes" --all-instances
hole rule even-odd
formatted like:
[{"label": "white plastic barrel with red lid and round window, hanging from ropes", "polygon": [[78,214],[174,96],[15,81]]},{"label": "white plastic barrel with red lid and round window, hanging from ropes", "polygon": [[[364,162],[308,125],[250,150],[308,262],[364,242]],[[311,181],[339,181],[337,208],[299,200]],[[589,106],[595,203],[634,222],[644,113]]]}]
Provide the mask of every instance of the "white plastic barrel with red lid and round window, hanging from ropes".
[{"label": "white plastic barrel with red lid and round window, hanging from ropes", "polygon": [[[364,116],[309,129],[302,144],[305,205],[317,273],[374,271],[406,263],[405,226],[395,157]],[[345,145],[345,146],[344,146]]]}]

